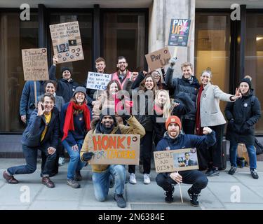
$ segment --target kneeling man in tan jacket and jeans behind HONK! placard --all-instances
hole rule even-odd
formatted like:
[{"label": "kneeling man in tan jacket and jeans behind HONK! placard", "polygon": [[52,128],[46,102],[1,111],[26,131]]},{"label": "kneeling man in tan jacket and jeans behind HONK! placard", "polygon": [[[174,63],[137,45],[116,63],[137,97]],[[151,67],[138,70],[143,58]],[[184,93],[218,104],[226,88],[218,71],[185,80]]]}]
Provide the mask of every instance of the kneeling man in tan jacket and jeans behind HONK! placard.
[{"label": "kneeling man in tan jacket and jeans behind HONK! placard", "polygon": [[[140,134],[142,138],[145,134],[144,127],[137,121],[134,116],[123,115],[129,126],[119,125],[116,117],[109,113],[109,109],[102,110],[100,118],[93,120],[91,123],[92,130],[88,132],[84,139],[81,149],[81,160],[88,162],[93,156],[88,152],[88,136],[90,134]],[[123,198],[124,186],[126,181],[126,169],[124,165],[91,165],[93,169],[93,188],[95,197],[98,201],[103,202],[109,193],[109,176],[112,174],[115,179],[114,200],[118,207],[125,208],[126,200]]]}]

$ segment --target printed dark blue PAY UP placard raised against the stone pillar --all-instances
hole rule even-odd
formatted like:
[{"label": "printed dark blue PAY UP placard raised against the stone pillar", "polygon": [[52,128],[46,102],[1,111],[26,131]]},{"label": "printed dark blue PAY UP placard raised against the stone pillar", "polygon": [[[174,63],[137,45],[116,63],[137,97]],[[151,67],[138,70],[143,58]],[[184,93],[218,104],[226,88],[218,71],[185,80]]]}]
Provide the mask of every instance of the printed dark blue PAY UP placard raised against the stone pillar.
[{"label": "printed dark blue PAY UP placard raised against the stone pillar", "polygon": [[168,45],[187,47],[190,25],[191,20],[172,19],[170,23]]}]

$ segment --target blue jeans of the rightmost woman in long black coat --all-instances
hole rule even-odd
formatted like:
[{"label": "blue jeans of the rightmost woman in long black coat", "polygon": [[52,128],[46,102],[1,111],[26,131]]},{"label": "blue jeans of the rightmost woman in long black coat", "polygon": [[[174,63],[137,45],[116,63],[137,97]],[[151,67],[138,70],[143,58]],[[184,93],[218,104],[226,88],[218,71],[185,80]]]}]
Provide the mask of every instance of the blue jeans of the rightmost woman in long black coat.
[{"label": "blue jeans of the rightmost woman in long black coat", "polygon": [[[254,146],[245,144],[245,147],[247,148],[248,151],[250,169],[257,169],[257,155]],[[231,166],[234,167],[237,167],[236,165],[237,148],[238,148],[238,144],[230,142],[229,160]]]}]

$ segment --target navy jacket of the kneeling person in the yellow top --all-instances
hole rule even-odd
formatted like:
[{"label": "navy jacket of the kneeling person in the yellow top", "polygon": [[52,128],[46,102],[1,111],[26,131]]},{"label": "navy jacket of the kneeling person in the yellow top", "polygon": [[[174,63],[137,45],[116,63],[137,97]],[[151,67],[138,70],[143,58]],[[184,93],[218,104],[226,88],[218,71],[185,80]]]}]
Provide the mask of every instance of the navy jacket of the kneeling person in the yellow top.
[{"label": "navy jacket of the kneeling person in the yellow top", "polygon": [[51,120],[48,123],[48,130],[46,131],[43,141],[41,140],[41,134],[46,127],[45,116],[37,116],[37,109],[35,109],[29,119],[29,123],[22,134],[21,143],[28,147],[54,147],[58,146],[59,139],[59,113],[55,107],[52,110]]}]

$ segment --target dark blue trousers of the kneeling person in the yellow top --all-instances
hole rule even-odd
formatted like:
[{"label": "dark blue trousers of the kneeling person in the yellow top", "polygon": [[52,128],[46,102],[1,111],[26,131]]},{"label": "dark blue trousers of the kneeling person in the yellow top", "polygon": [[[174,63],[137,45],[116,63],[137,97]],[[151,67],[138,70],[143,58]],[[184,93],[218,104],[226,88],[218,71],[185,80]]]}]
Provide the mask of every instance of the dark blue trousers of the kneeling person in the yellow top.
[{"label": "dark blue trousers of the kneeling person in the yellow top", "polygon": [[21,165],[17,167],[10,167],[7,169],[8,173],[11,175],[14,174],[32,174],[36,170],[36,159],[37,151],[41,150],[42,153],[46,155],[45,164],[41,165],[41,174],[43,176],[49,176],[53,167],[55,166],[56,153],[53,155],[48,154],[48,147],[27,147],[22,146],[22,150],[25,156],[25,161],[27,165]]}]

